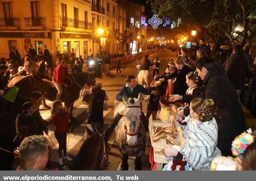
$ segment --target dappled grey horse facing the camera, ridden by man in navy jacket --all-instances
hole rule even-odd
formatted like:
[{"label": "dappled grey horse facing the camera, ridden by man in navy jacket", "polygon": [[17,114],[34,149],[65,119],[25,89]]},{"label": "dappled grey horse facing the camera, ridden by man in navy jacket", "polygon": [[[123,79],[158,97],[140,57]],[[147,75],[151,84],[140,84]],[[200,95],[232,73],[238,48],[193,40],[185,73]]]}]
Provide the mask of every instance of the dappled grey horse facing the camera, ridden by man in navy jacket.
[{"label": "dappled grey horse facing the camera, ridden by man in navy jacket", "polygon": [[128,157],[136,155],[135,170],[141,170],[142,156],[146,149],[146,131],[141,115],[142,94],[136,98],[126,98],[123,94],[123,101],[115,101],[114,115],[125,106],[124,116],[120,119],[116,129],[116,142],[120,153],[122,154],[121,170],[128,170]]}]

